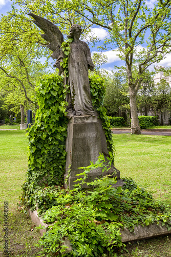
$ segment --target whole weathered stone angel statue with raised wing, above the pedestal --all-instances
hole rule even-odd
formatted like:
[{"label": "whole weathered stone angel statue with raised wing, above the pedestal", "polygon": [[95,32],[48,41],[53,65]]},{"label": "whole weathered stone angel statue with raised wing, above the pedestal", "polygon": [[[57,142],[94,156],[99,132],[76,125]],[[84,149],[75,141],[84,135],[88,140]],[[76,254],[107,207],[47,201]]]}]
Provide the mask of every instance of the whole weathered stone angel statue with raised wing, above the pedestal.
[{"label": "whole weathered stone angel statue with raised wing, above the pedestal", "polygon": [[[61,31],[55,24],[40,16],[33,13],[28,15],[32,16],[35,20],[33,22],[45,32],[41,36],[50,42],[47,47],[53,51],[51,57],[56,59],[54,67],[59,69],[59,75],[61,75],[63,68],[60,66],[60,62],[65,58],[65,54],[61,49],[63,42]],[[71,49],[68,59],[69,85],[71,90],[71,96],[68,96],[67,99],[69,102],[67,109],[69,117],[74,115],[95,115],[90,94],[88,71],[89,69],[93,71],[94,64],[91,59],[89,46],[86,42],[79,40],[81,33],[81,26],[74,24],[71,26],[70,34],[68,35],[68,38],[73,38],[73,42],[70,44]]]}]

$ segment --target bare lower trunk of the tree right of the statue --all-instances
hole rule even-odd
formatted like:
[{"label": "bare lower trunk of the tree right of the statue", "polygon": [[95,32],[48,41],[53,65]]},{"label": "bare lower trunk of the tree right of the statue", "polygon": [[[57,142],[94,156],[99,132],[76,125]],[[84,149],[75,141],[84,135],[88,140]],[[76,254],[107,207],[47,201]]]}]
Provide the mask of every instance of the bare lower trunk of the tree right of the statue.
[{"label": "bare lower trunk of the tree right of the statue", "polygon": [[130,86],[130,109],[131,109],[131,134],[141,134],[138,114],[135,88]]}]

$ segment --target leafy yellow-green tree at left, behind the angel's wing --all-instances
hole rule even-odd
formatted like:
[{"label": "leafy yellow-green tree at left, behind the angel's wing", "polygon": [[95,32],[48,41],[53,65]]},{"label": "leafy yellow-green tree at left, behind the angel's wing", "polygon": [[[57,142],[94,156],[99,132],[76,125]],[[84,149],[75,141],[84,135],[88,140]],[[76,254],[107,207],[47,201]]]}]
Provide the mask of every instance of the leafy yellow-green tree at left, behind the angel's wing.
[{"label": "leafy yellow-green tree at left, behind the angel's wing", "polygon": [[25,123],[24,108],[34,109],[36,105],[34,90],[36,80],[47,72],[49,66],[45,60],[43,63],[40,60],[44,49],[40,49],[36,44],[39,42],[36,32],[34,36],[31,33],[34,33],[34,28],[32,29],[29,19],[25,19],[22,12],[18,15],[12,10],[9,15],[1,17],[1,95],[5,104],[12,106],[11,111],[17,114],[20,110],[22,123]]}]

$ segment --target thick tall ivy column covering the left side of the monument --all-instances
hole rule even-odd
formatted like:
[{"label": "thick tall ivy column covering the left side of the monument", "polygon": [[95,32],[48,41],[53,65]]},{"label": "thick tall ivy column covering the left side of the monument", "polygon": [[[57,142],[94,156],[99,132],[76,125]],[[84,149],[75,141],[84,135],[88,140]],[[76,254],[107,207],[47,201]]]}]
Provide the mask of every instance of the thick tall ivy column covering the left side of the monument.
[{"label": "thick tall ivy column covering the left side of the monument", "polygon": [[[40,208],[39,201],[43,197],[41,193],[44,192],[42,190],[45,187],[63,185],[67,154],[65,151],[68,124],[65,101],[67,90],[63,87],[63,78],[56,75],[44,76],[37,84],[39,109],[35,124],[27,134],[28,171],[21,197],[25,206],[35,208],[37,201]],[[45,205],[46,201],[44,207]]]}]

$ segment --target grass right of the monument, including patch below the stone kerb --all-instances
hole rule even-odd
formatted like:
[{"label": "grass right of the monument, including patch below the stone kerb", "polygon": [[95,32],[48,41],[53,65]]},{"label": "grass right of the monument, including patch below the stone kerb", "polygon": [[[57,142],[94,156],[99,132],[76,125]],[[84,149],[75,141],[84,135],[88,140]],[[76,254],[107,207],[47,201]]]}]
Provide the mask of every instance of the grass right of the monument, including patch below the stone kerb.
[{"label": "grass right of the monument, including patch below the stone kerb", "polygon": [[[115,167],[121,177],[132,177],[155,199],[171,205],[171,137],[113,134]],[[171,235],[127,245],[124,257],[169,257]]]}]

